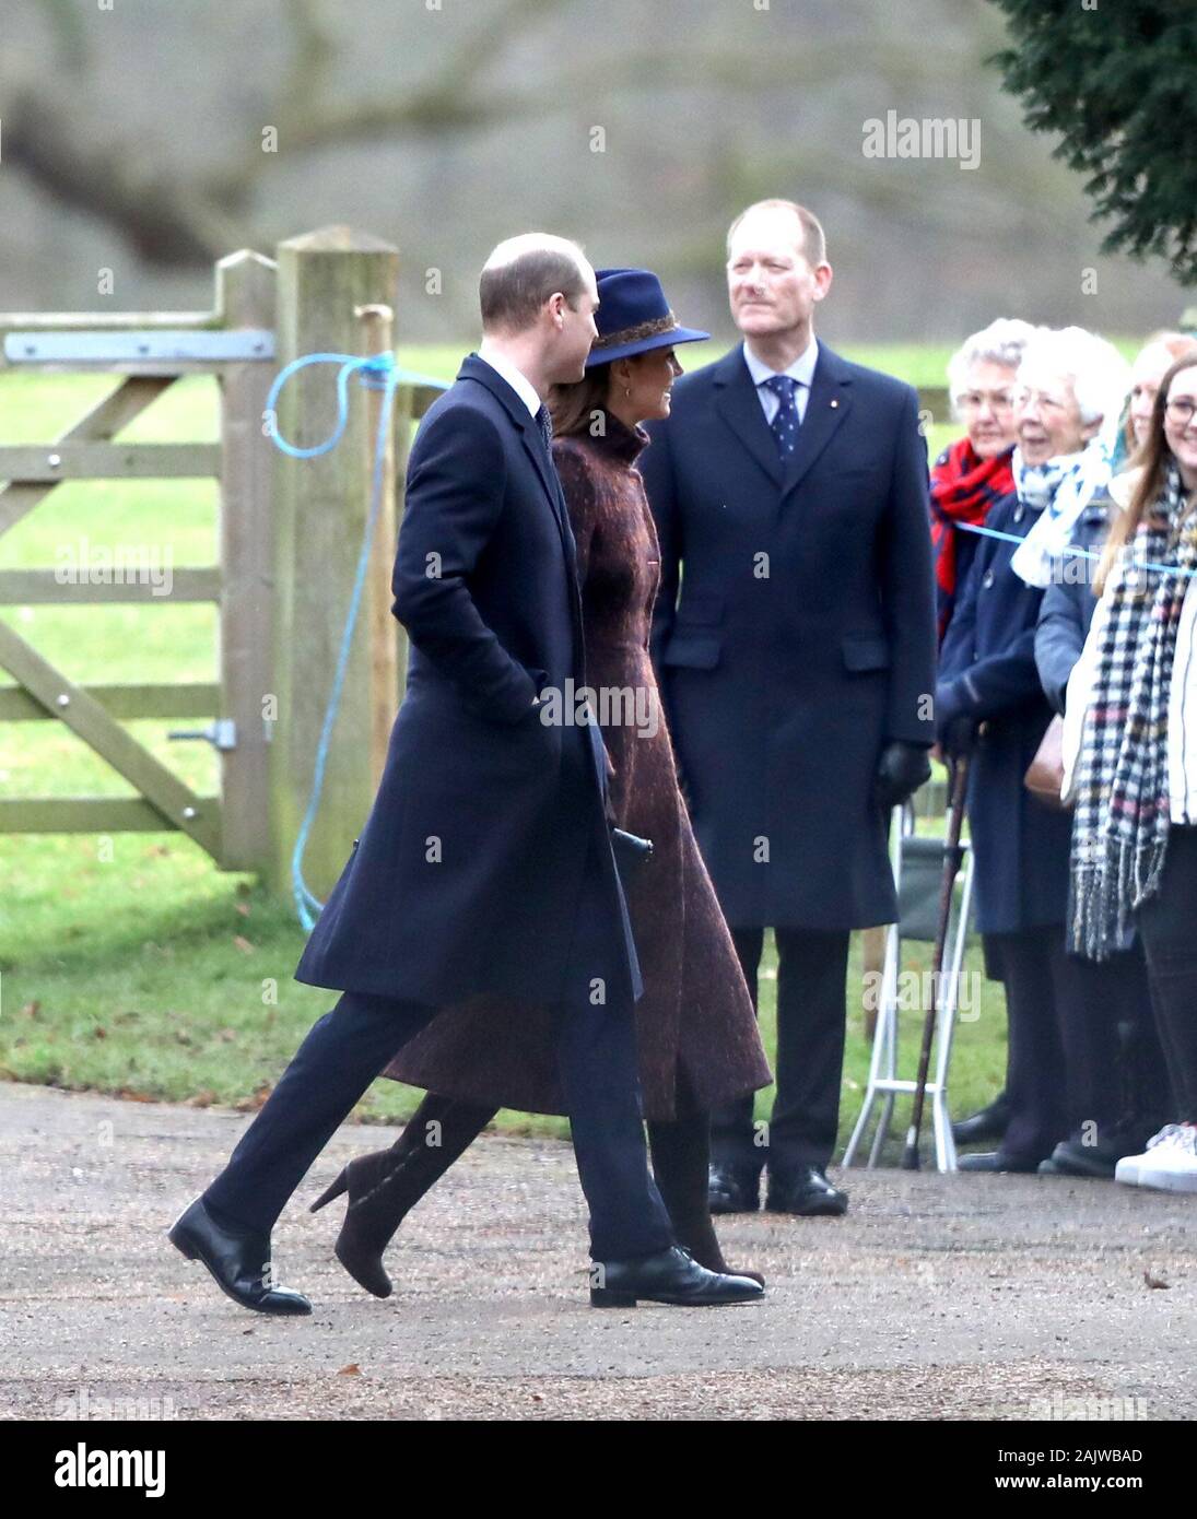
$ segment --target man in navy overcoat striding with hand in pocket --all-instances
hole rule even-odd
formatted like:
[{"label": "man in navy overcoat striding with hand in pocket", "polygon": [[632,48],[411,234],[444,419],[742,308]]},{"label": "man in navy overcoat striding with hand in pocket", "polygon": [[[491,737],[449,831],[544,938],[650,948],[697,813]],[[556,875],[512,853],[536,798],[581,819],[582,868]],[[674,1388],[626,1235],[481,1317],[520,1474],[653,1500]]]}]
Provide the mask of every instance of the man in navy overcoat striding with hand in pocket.
[{"label": "man in navy overcoat striding with hand in pocket", "polygon": [[[235,1302],[310,1312],[263,1265],[270,1229],[342,1120],[445,1003],[557,1010],[557,1059],[591,1212],[591,1300],[737,1302],[756,1282],[674,1246],[647,1170],[633,1028],[643,992],[592,725],[548,725],[585,685],[574,541],[544,396],[582,378],[594,270],[564,238],[501,243],[482,354],[428,409],[392,588],[407,690],[371,814],[296,980],[343,990],[172,1241]],[[504,1030],[495,1027],[494,1037]]]}]

